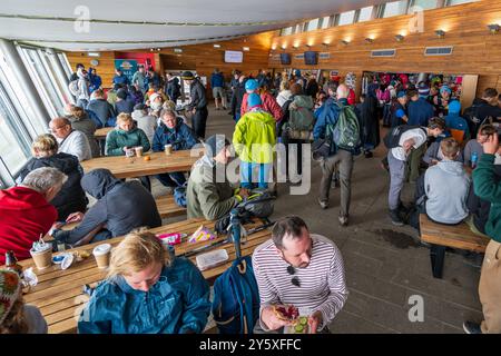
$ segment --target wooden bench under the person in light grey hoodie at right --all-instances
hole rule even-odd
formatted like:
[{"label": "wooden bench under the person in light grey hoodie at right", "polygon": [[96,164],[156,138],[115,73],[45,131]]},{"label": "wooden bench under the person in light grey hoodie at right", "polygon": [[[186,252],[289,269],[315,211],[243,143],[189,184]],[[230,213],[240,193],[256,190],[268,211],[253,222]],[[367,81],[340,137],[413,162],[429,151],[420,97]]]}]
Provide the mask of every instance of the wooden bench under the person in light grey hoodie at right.
[{"label": "wooden bench under the person in light grey hoodie at right", "polygon": [[445,248],[485,253],[490,239],[473,234],[466,222],[442,225],[433,222],[425,214],[420,215],[421,240],[431,244],[430,258],[433,277],[442,278]]}]

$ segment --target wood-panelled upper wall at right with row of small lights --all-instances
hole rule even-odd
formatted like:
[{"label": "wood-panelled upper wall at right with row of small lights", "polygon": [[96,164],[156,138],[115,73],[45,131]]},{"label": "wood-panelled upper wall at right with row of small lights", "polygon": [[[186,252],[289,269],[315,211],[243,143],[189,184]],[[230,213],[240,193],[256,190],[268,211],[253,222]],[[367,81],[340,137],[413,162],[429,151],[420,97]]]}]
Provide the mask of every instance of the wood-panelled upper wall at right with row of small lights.
[{"label": "wood-panelled upper wall at right with row of small lights", "polygon": [[[338,70],[341,75],[353,71],[391,72],[443,72],[458,75],[480,75],[478,93],[487,87],[498,87],[501,76],[501,33],[490,34],[489,23],[501,24],[501,1],[479,1],[468,4],[446,7],[424,11],[423,32],[409,33],[412,16],[400,16],[387,19],[361,22],[350,26],[334,27],[294,36],[277,37],[272,40],[273,55],[269,57],[269,68],[283,68],[281,52],[292,53],[294,68],[322,68]],[[440,39],[435,30],[443,29],[446,34]],[[395,34],[404,34],[402,42],[395,40]],[[366,43],[365,38],[374,39]],[[341,40],[347,39],[347,46]],[[323,42],[330,42],[328,47]],[[293,44],[299,46],[294,49]],[[307,50],[328,52],[330,59],[320,59],[317,66],[305,66],[303,60],[296,60],[294,55]],[[286,46],[285,50],[281,47]],[[453,46],[452,56],[424,57],[425,47]],[[371,58],[371,50],[396,49],[394,58]]]}]

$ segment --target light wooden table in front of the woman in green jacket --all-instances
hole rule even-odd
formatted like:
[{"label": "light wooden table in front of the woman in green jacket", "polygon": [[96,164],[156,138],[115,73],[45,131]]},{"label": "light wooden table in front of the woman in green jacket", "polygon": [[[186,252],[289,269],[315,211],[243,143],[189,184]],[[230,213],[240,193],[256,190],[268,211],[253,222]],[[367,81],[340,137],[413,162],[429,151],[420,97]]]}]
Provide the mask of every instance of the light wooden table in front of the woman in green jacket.
[{"label": "light wooden table in front of the woman in green jacket", "polygon": [[145,160],[144,157],[106,156],[85,160],[80,165],[86,172],[97,168],[107,168],[117,178],[135,178],[174,171],[189,171],[203,152],[203,149],[191,149],[175,151],[169,156],[165,152],[145,154],[145,156],[150,157],[150,160]]}]

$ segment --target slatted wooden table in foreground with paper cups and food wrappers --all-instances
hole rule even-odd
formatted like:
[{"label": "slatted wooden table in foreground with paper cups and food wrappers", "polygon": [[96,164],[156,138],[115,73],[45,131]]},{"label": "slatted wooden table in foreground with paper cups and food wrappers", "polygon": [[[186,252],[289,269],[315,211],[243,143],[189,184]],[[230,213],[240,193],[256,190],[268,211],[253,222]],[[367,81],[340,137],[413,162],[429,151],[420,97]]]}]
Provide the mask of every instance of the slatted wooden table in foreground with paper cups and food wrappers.
[{"label": "slatted wooden table in foreground with paper cups and food wrappers", "polygon": [[[190,219],[154,228],[149,231],[154,234],[185,233],[190,235],[195,233],[202,224],[214,230],[214,222],[212,221],[206,221],[204,219]],[[259,224],[252,224],[246,226],[246,228],[249,229],[255,226],[259,226]],[[247,241],[242,244],[242,255],[252,255],[257,246],[269,238],[271,233],[268,229],[249,235],[247,237]],[[183,243],[175,246],[175,254],[176,256],[184,255],[197,248],[209,246],[225,239],[226,236],[222,236],[212,241],[202,241],[196,244]],[[122,237],[116,237],[107,240],[107,243],[116,246],[121,240]],[[91,253],[94,247],[99,244],[102,243],[81,246],[67,250],[67,253],[77,250],[86,250]],[[224,265],[204,270],[203,275],[206,279],[210,280],[219,276],[235,260],[235,248],[233,244],[225,243],[214,247],[214,249],[218,248],[226,249],[229,255],[229,260]],[[200,254],[206,251],[207,250],[203,250]],[[196,255],[191,255],[189,259],[196,265]],[[106,271],[97,268],[94,256],[90,255],[81,261],[73,261],[73,264],[66,270],[61,270],[58,265],[53,265],[43,270],[38,270],[37,267],[35,267],[32,259],[22,260],[19,264],[24,269],[33,267],[33,271],[38,276],[38,285],[32,287],[27,294],[24,294],[23,297],[26,303],[36,305],[40,309],[47,320],[47,324],[49,325],[49,333],[76,333],[78,316],[89,299],[87,295],[82,294],[82,286],[88,284],[91,287],[95,287],[98,281],[106,277]]]}]

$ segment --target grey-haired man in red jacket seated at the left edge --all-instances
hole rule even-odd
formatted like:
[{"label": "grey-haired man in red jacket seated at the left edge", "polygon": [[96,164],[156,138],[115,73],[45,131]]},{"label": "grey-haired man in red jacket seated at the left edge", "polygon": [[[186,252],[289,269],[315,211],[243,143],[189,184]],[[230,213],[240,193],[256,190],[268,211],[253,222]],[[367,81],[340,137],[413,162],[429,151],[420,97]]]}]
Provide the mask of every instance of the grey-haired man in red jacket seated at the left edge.
[{"label": "grey-haired man in red jacket seated at the left edge", "polygon": [[58,217],[49,204],[68,177],[52,167],[32,170],[18,187],[0,190],[0,265],[6,253],[16,257],[31,258],[33,241],[45,236]]}]

